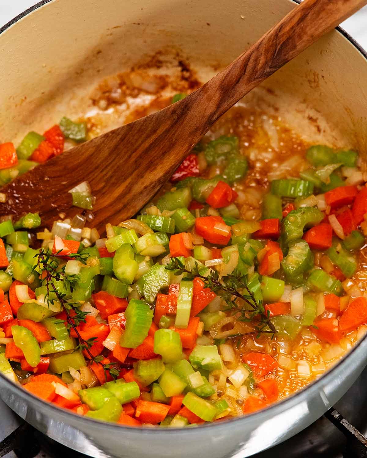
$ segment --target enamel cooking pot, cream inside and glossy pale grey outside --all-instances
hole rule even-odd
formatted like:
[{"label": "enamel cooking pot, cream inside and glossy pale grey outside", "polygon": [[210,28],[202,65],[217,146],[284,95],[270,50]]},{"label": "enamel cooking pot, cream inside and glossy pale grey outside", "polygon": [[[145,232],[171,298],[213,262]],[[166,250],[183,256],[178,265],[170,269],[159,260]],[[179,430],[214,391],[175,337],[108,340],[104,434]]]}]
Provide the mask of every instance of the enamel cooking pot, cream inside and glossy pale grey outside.
[{"label": "enamel cooking pot, cream inside and glossy pale grey outside", "polygon": [[[42,1],[0,29],[1,139],[17,142],[65,113],[77,116],[104,76],[129,70],[160,50],[172,59],[182,56],[205,81],[293,7],[291,0]],[[313,142],[355,147],[363,155],[366,82],[367,56],[339,30],[278,71],[245,102],[280,114]],[[89,420],[34,398],[3,376],[0,396],[43,433],[93,457],[243,458],[311,424],[348,390],[366,363],[364,339],[317,382],[270,408],[177,430]]]}]

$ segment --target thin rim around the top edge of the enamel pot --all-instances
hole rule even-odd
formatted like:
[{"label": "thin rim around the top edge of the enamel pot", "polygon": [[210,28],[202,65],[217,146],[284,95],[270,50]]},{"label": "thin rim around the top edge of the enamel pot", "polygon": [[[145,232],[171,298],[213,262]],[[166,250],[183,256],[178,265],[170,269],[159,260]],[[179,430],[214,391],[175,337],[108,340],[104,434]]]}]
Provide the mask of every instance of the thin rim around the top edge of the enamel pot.
[{"label": "thin rim around the top edge of the enamel pot", "polygon": [[[39,9],[41,6],[46,5],[47,3],[50,3],[51,1],[54,0],[41,0],[39,3],[36,3],[33,6],[30,6],[27,10],[23,11],[13,19],[11,19],[9,22],[7,22],[4,26],[0,27],[0,35],[5,32],[9,27],[20,21],[23,17],[28,16],[30,13],[33,13],[37,9]],[[292,1],[293,3],[300,4],[301,0],[289,0]],[[352,44],[360,53],[361,55],[367,60],[367,51],[362,48],[362,46],[356,42],[354,38],[352,38],[349,33],[347,33],[342,27],[338,26],[335,27],[335,30],[340,33],[344,38],[346,38],[350,44]],[[251,425],[251,420],[254,418],[254,415],[257,415],[257,419],[260,419],[261,421],[267,420],[269,412],[273,414],[273,416],[276,416],[277,414],[280,414],[281,412],[284,412],[287,410],[288,406],[289,408],[292,405],[295,405],[297,403],[302,403],[303,401],[306,400],[308,397],[308,391],[313,389],[317,390],[319,387],[321,388],[324,384],[327,385],[328,382],[331,382],[334,380],[334,373],[336,370],[341,366],[341,365],[346,365],[346,360],[351,357],[353,353],[356,352],[356,350],[360,347],[360,345],[367,340],[367,334],[365,337],[361,338],[361,340],[353,346],[352,349],[346,354],[343,358],[341,358],[331,369],[329,369],[325,374],[323,374],[319,379],[315,380],[312,382],[310,385],[307,387],[300,389],[299,391],[295,392],[292,394],[289,398],[284,398],[281,401],[278,401],[277,403],[273,403],[270,406],[261,409],[259,411],[253,412],[251,414],[247,414],[245,416],[241,417],[233,417],[231,419],[228,419],[223,422],[217,422],[217,423],[212,423],[212,424],[204,424],[204,425],[198,425],[195,427],[197,428],[214,428],[214,427],[221,427],[221,428],[231,428],[234,422],[236,422],[236,425],[240,425],[240,422],[242,425],[246,426]],[[66,417],[69,417],[70,415],[72,418],[75,419],[75,417],[78,417],[78,421],[82,422],[85,426],[90,425],[90,422],[92,421],[95,423],[95,425],[99,425],[100,427],[104,428],[111,428],[112,431],[128,431],[130,434],[136,434],[136,435],[148,435],[148,436],[154,436],[157,434],[157,431],[155,428],[141,428],[141,427],[131,427],[131,426],[125,426],[125,425],[119,425],[115,423],[108,423],[106,421],[100,421],[100,420],[94,420],[92,418],[84,417],[81,415],[78,415],[76,413],[73,413],[72,411],[68,411],[67,409],[61,409],[59,407],[56,407],[56,405],[52,403],[45,402],[35,396],[33,396],[31,393],[28,393],[26,390],[22,390],[20,386],[17,386],[10,380],[8,380],[1,372],[0,372],[0,381],[4,384],[7,385],[7,387],[17,396],[20,396],[26,403],[32,402],[36,404],[36,406],[39,409],[45,409],[45,414],[49,416],[53,416],[54,413],[57,414],[65,414]],[[164,434],[165,436],[168,436],[169,434],[175,434],[175,433],[184,433],[184,434],[191,434],[191,428],[174,428],[174,429],[169,429],[169,428],[161,428],[159,430],[160,434]]]}]

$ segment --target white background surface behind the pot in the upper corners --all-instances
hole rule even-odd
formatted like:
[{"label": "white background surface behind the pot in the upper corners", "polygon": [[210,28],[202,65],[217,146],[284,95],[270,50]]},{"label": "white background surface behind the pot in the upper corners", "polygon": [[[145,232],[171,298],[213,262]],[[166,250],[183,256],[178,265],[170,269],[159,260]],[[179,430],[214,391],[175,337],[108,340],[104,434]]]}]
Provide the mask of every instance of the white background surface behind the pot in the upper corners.
[{"label": "white background surface behind the pot in the upper corners", "polygon": [[[34,0],[0,0],[0,27],[35,3]],[[367,6],[343,22],[342,27],[367,50]]]}]

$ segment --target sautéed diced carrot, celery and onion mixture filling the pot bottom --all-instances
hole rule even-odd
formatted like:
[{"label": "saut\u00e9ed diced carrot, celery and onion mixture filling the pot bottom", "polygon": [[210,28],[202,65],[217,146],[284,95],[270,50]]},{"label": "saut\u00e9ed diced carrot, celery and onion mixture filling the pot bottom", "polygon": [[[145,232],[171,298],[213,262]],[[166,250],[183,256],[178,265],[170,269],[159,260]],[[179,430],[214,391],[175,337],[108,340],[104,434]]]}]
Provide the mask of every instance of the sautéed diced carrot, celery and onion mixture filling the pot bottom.
[{"label": "saut\u00e9ed diced carrot, celery and onion mixture filling the pot bottom", "polygon": [[[3,218],[6,377],[96,420],[199,425],[289,396],[365,333],[358,153],[306,145],[267,118],[286,150],[275,158],[262,128],[252,143],[234,135],[234,110],[167,192],[136,218],[107,223],[106,237],[93,229],[87,182],[71,190],[83,211],[60,215],[51,231],[37,229],[38,214]],[[241,127],[255,128],[254,119]],[[0,183],[62,153],[65,138],[87,136],[84,123],[63,118],[17,149],[1,144]]]}]

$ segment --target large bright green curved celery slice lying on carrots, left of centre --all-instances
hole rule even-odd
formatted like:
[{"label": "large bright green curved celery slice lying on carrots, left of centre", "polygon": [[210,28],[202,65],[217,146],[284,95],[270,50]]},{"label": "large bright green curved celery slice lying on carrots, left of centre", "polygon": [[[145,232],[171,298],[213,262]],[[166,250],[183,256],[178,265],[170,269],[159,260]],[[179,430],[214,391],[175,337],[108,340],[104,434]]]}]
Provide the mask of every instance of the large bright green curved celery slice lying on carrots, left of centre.
[{"label": "large bright green curved celery slice lying on carrots, left of centre", "polygon": [[143,300],[132,299],[125,310],[125,317],[125,332],[120,338],[120,345],[125,348],[136,348],[148,335],[153,311]]}]

